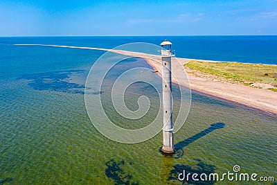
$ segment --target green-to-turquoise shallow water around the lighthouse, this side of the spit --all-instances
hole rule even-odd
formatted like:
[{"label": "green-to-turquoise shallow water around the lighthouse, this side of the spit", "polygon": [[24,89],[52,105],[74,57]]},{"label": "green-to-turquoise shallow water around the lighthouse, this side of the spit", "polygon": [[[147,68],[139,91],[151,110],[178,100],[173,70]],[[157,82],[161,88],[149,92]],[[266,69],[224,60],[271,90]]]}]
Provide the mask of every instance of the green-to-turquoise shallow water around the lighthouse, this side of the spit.
[{"label": "green-to-turquoise shallow water around the lighthouse, this side of the spit", "polygon": [[[0,48],[0,184],[181,184],[175,179],[181,170],[222,174],[235,165],[243,173],[276,177],[274,114],[193,92],[188,119],[175,134],[177,152],[164,156],[161,133],[143,143],[123,144],[102,136],[89,121],[84,82],[102,51]],[[138,58],[125,64],[150,68]],[[127,106],[136,109],[145,93],[156,96],[151,87],[134,84]],[[105,103],[111,107],[109,99]],[[157,114],[157,101],[152,103],[148,118]],[[129,128],[147,121],[133,124],[110,113]]]}]

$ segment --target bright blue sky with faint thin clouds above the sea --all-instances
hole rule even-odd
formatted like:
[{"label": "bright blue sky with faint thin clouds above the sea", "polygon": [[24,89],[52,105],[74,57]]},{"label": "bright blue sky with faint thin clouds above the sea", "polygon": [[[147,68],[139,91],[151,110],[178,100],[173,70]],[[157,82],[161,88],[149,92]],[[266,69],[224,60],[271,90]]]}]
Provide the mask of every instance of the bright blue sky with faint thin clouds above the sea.
[{"label": "bright blue sky with faint thin clouds above the sea", "polygon": [[0,1],[0,36],[277,35],[277,0]]}]

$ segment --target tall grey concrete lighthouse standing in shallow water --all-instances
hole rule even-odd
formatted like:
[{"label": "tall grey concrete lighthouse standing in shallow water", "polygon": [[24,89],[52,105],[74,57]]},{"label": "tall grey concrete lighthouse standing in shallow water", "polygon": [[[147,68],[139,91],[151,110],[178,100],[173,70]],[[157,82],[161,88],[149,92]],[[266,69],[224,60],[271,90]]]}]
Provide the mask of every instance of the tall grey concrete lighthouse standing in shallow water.
[{"label": "tall grey concrete lighthouse standing in shallow water", "polygon": [[165,39],[161,42],[161,62],[163,65],[163,148],[164,153],[172,154],[175,152],[173,145],[172,127],[172,96],[171,96],[171,57],[174,51],[171,50],[171,42]]}]

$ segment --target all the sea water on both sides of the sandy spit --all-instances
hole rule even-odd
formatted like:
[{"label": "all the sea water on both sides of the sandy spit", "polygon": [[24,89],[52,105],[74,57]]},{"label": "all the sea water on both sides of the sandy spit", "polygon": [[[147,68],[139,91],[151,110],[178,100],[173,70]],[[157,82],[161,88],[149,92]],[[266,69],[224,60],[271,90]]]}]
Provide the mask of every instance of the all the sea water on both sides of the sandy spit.
[{"label": "all the sea water on both sides of the sandy spit", "polygon": [[[120,143],[91,123],[102,115],[93,106],[88,115],[84,89],[91,67],[105,51],[15,45],[113,49],[133,42],[159,46],[164,39],[172,42],[178,58],[277,64],[274,35],[0,37],[0,184],[276,184],[259,178],[277,178],[276,114],[191,91],[188,116],[174,135],[176,152],[164,155],[162,132],[143,142]],[[122,118],[114,108],[112,85],[125,71],[139,67],[150,71],[141,75],[161,85],[145,60],[127,58],[108,71],[103,91],[90,94],[102,97],[106,116],[126,129],[145,127],[161,109],[157,89],[139,81],[126,89],[126,107],[136,111],[139,98],[146,96],[149,112],[134,120]],[[173,121],[183,90],[189,89],[172,86]],[[220,179],[181,181],[178,176],[184,172],[217,173]],[[228,172],[233,179],[222,179]],[[248,173],[249,181],[240,181],[240,173]],[[253,173],[257,181],[251,180]]]}]

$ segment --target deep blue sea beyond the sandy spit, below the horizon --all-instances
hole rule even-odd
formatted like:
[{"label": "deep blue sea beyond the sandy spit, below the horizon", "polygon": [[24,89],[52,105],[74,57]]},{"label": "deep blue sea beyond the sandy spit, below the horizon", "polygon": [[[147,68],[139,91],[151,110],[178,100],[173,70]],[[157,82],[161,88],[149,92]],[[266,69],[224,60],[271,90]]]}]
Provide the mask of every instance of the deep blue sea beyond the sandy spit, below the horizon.
[{"label": "deep blue sea beyond the sandy spit, below the horizon", "polygon": [[[1,37],[0,44],[56,44],[112,49],[130,42],[161,44],[165,37]],[[277,64],[277,35],[168,36],[179,58]]]}]

